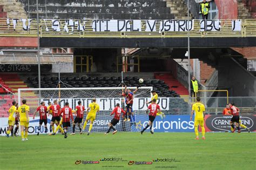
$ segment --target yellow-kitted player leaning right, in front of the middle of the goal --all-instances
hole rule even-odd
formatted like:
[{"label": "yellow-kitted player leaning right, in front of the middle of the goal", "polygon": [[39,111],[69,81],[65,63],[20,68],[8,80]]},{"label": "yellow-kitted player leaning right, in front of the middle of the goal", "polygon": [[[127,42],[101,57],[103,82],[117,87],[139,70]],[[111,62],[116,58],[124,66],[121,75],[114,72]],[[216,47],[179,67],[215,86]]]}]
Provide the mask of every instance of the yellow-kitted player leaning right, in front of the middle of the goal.
[{"label": "yellow-kitted player leaning right, in front of the middle of the goal", "polygon": [[[90,110],[90,111],[89,111]],[[89,127],[89,131],[87,133],[87,135],[90,134],[91,130],[92,130],[92,124],[93,121],[96,118],[96,114],[99,111],[99,105],[96,103],[96,99],[92,99],[92,103],[90,103],[89,107],[87,108],[87,116],[84,122],[84,127],[83,130],[85,130],[85,127],[87,125],[87,121],[90,120],[90,127]]]}]

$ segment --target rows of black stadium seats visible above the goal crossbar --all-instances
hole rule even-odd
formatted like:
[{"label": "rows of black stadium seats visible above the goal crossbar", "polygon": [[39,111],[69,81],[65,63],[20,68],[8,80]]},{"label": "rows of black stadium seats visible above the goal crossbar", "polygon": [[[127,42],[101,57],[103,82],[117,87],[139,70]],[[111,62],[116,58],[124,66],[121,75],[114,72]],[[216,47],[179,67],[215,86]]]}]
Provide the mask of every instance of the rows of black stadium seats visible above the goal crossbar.
[{"label": "rows of black stadium seats visible above the goal crossbar", "polygon": [[[124,83],[127,86],[138,86],[139,77],[125,77]],[[122,81],[121,77],[60,77],[62,84],[60,87],[118,87]],[[28,77],[26,83],[30,87],[38,88],[38,77]],[[56,88],[58,84],[57,77],[43,77],[41,80],[42,88]],[[144,80],[142,86],[152,86],[161,97],[180,97],[176,91],[170,90],[165,81],[159,79]]]}]

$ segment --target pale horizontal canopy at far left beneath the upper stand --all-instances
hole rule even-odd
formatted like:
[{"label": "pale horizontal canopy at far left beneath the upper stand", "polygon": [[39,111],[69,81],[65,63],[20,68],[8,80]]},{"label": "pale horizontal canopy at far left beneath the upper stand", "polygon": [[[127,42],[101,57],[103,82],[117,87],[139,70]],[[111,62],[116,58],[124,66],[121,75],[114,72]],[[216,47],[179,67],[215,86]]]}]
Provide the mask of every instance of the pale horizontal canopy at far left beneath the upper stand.
[{"label": "pale horizontal canopy at far left beneath the upper stand", "polygon": [[[42,53],[41,64],[72,63],[73,53]],[[38,64],[37,53],[2,53],[0,64]]]}]

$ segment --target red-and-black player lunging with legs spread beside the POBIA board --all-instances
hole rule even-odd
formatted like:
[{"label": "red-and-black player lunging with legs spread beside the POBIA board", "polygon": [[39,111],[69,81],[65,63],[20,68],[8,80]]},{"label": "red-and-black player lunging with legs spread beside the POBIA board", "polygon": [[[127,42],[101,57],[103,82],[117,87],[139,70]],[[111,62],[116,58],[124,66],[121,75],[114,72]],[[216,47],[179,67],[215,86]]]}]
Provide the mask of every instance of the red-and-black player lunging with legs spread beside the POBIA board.
[{"label": "red-and-black player lunging with legs spread beside the POBIA board", "polygon": [[111,122],[109,123],[109,130],[105,133],[105,134],[109,134],[110,130],[112,129],[114,132],[112,134],[117,133],[116,128],[114,128],[113,126],[116,126],[116,124],[119,122],[120,120],[120,116],[121,113],[123,112],[123,117],[125,115],[125,111],[123,110],[123,108],[120,107],[120,104],[117,103],[117,106],[114,107],[114,110],[111,112],[110,115],[114,114],[114,118],[111,120]]}]

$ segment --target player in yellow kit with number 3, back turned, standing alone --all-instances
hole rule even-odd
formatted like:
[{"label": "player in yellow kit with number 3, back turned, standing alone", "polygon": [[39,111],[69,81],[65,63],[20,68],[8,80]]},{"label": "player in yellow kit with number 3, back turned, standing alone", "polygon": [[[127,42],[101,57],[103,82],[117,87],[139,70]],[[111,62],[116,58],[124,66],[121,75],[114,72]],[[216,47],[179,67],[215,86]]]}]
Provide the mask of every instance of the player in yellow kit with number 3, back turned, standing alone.
[{"label": "player in yellow kit with number 3, back turned, standing alone", "polygon": [[190,115],[190,121],[192,120],[192,116],[194,115],[194,133],[196,133],[196,139],[199,140],[198,136],[198,125],[201,126],[202,129],[202,139],[205,139],[205,127],[204,127],[204,111],[205,111],[205,105],[200,103],[200,97],[197,97],[197,102],[193,104],[192,111]]}]

